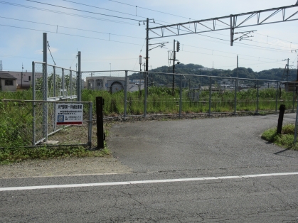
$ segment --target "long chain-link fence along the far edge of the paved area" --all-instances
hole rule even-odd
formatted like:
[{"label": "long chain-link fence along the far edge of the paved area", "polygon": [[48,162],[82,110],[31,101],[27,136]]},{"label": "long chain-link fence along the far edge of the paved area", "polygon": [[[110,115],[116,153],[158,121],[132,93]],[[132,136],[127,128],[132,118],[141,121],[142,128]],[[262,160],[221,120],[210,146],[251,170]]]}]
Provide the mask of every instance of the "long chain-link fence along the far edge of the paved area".
[{"label": "long chain-link fence along the far edge of the paved area", "polygon": [[280,104],[288,111],[297,106],[295,82],[139,71],[83,72],[82,77],[83,101],[102,96],[105,118],[263,114],[277,112]]}]

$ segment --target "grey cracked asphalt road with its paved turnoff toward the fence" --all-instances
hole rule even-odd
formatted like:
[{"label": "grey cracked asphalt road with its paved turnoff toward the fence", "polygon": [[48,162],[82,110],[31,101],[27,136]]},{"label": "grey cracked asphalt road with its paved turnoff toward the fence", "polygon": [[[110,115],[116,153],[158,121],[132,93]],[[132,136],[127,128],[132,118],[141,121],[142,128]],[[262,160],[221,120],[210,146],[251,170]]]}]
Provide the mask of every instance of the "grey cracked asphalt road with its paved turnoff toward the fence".
[{"label": "grey cracked asphalt road with its paved turnoff toward the fence", "polygon": [[298,222],[298,153],[260,138],[277,118],[115,124],[134,173],[1,179],[0,222]]}]

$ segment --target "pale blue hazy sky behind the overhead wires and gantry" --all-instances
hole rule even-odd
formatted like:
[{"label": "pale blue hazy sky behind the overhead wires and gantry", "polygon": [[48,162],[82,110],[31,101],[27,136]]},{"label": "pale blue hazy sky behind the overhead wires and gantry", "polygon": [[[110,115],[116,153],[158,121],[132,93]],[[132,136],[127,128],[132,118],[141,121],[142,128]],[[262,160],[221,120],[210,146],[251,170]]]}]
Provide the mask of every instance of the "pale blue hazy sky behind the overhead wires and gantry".
[{"label": "pale blue hazy sky behind the overhead wires and gantry", "polygon": [[[43,61],[43,33],[47,33],[48,64],[76,70],[78,51],[82,71],[139,70],[139,55],[146,55],[146,26],[198,21],[296,4],[297,0],[4,0],[0,1],[0,60],[2,70],[31,72],[32,61]],[[287,9],[286,16],[298,11]],[[261,16],[266,16],[262,14]],[[243,19],[246,17],[242,17]],[[272,21],[282,18],[282,12]],[[298,19],[297,15],[292,18]],[[250,23],[255,23],[256,16]],[[218,24],[218,23],[217,23]],[[212,26],[212,24],[209,24]],[[218,24],[220,26],[220,23]],[[190,28],[191,25],[188,25]],[[187,25],[186,25],[187,28]],[[204,27],[201,26],[201,29]],[[181,49],[176,58],[183,64],[233,70],[250,67],[259,72],[286,65],[297,68],[298,20],[250,26],[235,32],[254,31],[246,40],[230,46],[230,31],[154,38],[149,32],[149,70],[168,66],[174,40]],[[168,32],[169,33],[169,32]],[[235,35],[235,38],[240,34]],[[168,42],[168,43],[167,43]],[[297,52],[291,52],[297,50]],[[143,59],[144,62],[144,59]],[[144,67],[142,67],[144,70]]]}]

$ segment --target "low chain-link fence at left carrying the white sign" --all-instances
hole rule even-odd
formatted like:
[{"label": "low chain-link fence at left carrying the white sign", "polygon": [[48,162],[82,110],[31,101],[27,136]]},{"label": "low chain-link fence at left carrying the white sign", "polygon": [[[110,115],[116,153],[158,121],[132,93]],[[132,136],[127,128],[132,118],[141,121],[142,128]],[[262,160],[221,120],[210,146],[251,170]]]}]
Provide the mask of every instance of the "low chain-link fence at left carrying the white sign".
[{"label": "low chain-link fence at left carrying the white sign", "polygon": [[[61,105],[63,109],[59,109]],[[46,121],[44,107],[48,108]],[[1,100],[0,109],[0,148],[38,146],[43,142],[91,147],[94,142],[92,102]]]}]

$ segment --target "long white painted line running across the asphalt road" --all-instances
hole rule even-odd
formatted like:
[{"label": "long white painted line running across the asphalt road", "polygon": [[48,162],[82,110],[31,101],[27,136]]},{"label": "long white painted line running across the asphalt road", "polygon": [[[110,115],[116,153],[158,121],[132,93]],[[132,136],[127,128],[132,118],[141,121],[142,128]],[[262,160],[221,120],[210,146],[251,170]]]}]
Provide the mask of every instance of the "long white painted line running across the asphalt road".
[{"label": "long white painted line running across the asphalt road", "polygon": [[30,186],[30,187],[0,187],[0,191],[13,191],[13,190],[37,190],[37,189],[54,189],[54,188],[69,188],[69,187],[100,187],[100,186],[112,186],[112,185],[134,185],[134,184],[147,184],[147,183],[173,183],[173,182],[186,182],[186,181],[198,181],[198,180],[225,180],[235,178],[262,178],[273,177],[282,175],[298,175],[298,172],[294,173],[266,173],[255,175],[239,175],[239,176],[222,176],[222,177],[210,177],[210,178],[181,178],[181,179],[165,179],[165,180],[139,180],[139,181],[124,181],[124,182],[110,182],[110,183],[81,183],[70,185],[43,185],[43,186]]}]

